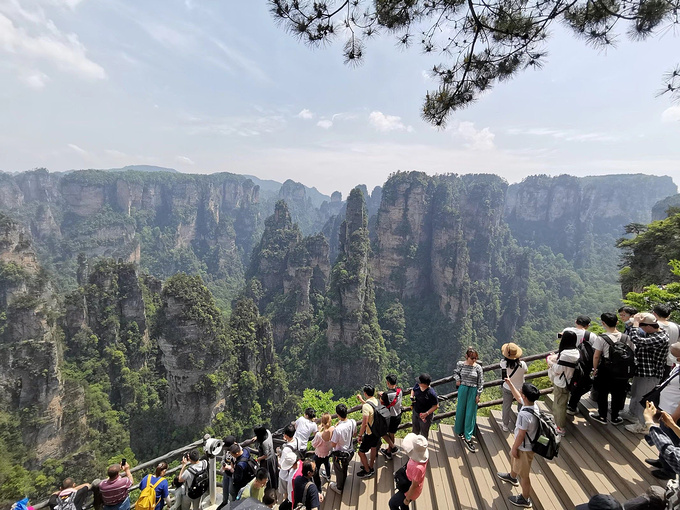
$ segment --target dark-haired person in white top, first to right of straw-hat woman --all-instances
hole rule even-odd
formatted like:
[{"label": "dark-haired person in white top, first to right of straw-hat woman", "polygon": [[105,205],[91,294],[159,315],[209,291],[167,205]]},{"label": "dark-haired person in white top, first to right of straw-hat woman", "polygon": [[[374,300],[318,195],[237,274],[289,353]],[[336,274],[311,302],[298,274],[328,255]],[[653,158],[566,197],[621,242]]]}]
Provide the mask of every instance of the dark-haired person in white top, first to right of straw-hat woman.
[{"label": "dark-haired person in white top, first to right of straw-hat woman", "polygon": [[553,415],[557,424],[557,433],[564,436],[567,431],[567,402],[569,401],[569,383],[574,377],[574,369],[580,358],[576,348],[577,337],[573,331],[565,331],[560,339],[557,354],[548,356],[548,377],[553,383]]}]

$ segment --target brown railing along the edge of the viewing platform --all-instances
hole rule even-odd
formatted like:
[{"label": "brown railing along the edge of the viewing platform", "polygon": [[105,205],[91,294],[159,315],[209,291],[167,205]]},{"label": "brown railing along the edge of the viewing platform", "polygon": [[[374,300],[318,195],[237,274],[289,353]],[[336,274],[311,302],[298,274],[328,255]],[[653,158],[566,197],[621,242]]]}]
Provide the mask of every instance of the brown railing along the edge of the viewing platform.
[{"label": "brown railing along the edge of the viewing platform", "polygon": [[[534,354],[534,355],[531,355],[531,356],[526,356],[526,357],[521,358],[521,360],[524,361],[524,362],[530,363],[532,361],[545,359],[545,357],[548,356],[549,354],[551,354],[551,352],[552,351],[548,351],[548,352],[543,352],[541,354]],[[485,366],[482,367],[483,372],[491,372],[491,371],[494,371],[494,370],[500,370],[500,364],[494,363],[492,365],[485,365]],[[531,374],[526,374],[524,378],[525,378],[525,380],[531,380],[531,379],[536,379],[536,378],[539,378],[539,377],[546,377],[547,375],[548,375],[548,371],[542,370],[540,372],[534,372],[534,373],[531,373]],[[451,376],[448,376],[448,377],[444,377],[442,379],[437,379],[435,381],[432,381],[430,386],[435,386],[435,387],[441,386],[443,384],[448,384],[448,383],[451,383],[453,381],[454,381],[454,377],[451,375]],[[491,388],[491,387],[495,387],[495,386],[500,386],[502,384],[503,384],[502,379],[494,379],[492,381],[485,382],[483,387],[484,388]],[[551,393],[552,390],[553,390],[552,387],[541,390],[541,395],[546,395],[548,393]],[[444,395],[438,395],[437,398],[439,399],[440,402],[445,402],[445,401],[451,401],[451,400],[455,399],[457,396],[458,396],[458,390],[450,392],[450,393],[446,393]],[[485,407],[492,407],[492,406],[500,405],[502,403],[503,403],[503,399],[489,400],[489,401],[486,401],[486,402],[481,402],[477,406],[477,408],[482,409],[482,408],[485,408]],[[362,406],[362,404],[357,404],[356,406],[353,406],[352,408],[348,409],[347,410],[348,414],[360,411],[361,406]],[[402,408],[402,410],[404,412],[410,411],[411,409],[412,409],[411,406],[405,406],[405,407]],[[443,420],[445,418],[450,418],[450,417],[455,416],[455,415],[456,415],[455,410],[449,411],[449,412],[444,412],[444,413],[437,413],[437,414],[434,415],[432,421]],[[332,418],[337,418],[337,415],[333,414]],[[399,426],[399,429],[403,430],[403,429],[408,428],[410,426],[411,426],[410,423],[402,423]],[[277,440],[277,442],[279,442],[279,443],[282,442],[282,440],[280,439],[282,437],[282,435],[283,435],[283,427],[272,433],[272,436],[274,436],[275,440]],[[155,459],[152,459],[152,460],[143,462],[141,464],[138,464],[135,467],[131,468],[130,472],[131,473],[137,473],[139,471],[143,471],[143,470],[146,470],[148,468],[155,468],[158,465],[158,463],[160,463],[160,462],[168,461],[168,460],[174,459],[176,457],[181,458],[185,453],[193,450],[194,448],[202,447],[208,439],[210,439],[210,435],[206,434],[202,440],[194,441],[193,443],[190,443],[188,445],[177,448],[177,449],[175,449],[171,452],[165,453],[165,454],[161,455],[160,457],[156,457]],[[182,466],[176,466],[174,468],[168,469],[166,471],[166,475],[169,475],[169,474],[172,474],[174,472],[179,471],[181,469],[181,467]],[[216,469],[216,462],[215,462],[214,456],[208,457],[208,469],[210,470],[209,471],[210,472],[210,474],[209,474],[209,479],[210,479],[210,488],[209,488],[210,504],[214,505],[215,500],[216,500],[216,496],[217,496],[217,469]],[[130,489],[130,492],[137,490],[137,489],[139,489],[139,485],[133,486]],[[33,505],[33,507],[36,510],[41,510],[43,508],[46,508],[48,506],[48,504],[49,504],[49,500],[45,500],[45,501],[41,501],[38,504]]]}]

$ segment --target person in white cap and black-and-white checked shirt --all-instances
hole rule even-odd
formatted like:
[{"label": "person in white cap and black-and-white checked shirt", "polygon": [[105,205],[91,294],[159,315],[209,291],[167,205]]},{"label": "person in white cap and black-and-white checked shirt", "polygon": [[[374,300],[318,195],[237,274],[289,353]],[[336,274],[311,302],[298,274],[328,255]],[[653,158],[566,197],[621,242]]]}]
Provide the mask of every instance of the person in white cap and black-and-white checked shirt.
[{"label": "person in white cap and black-and-white checked shirt", "polygon": [[[645,336],[640,334],[640,330],[645,333]],[[635,344],[636,370],[630,391],[628,412],[635,421],[631,425],[626,425],[626,430],[634,434],[644,434],[646,433],[642,414],[644,407],[640,400],[661,382],[668,359],[668,335],[654,315],[640,313],[633,317],[630,338]]]}]

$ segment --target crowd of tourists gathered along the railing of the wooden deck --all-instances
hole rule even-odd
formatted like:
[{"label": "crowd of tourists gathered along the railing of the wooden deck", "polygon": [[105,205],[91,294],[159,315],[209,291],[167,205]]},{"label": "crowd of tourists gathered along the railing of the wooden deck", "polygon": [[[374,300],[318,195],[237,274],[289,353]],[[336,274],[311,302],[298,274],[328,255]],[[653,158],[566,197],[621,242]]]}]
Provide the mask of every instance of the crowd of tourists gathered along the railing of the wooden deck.
[{"label": "crowd of tourists gathered along the railing of the wooden deck", "polygon": [[[658,451],[658,458],[647,459],[653,475],[669,480],[666,488],[653,487],[635,500],[619,503],[610,495],[597,495],[579,509],[676,508],[677,474],[680,473],[680,329],[668,320],[670,308],[654,307],[652,313],[638,313],[622,307],[617,314],[603,313],[599,335],[588,331],[590,318],[579,316],[574,327],[558,334],[559,346],[547,357],[548,377],[553,384],[552,415],[537,405],[541,392],[525,381],[527,364],[522,348],[515,343],[501,347],[502,430],[512,432],[510,472],[498,473],[505,483],[519,487],[509,498],[517,507],[531,508],[531,465],[536,454],[548,459],[556,455],[561,436],[567,433],[569,415],[579,412],[579,402],[590,392],[597,410],[590,412],[593,426],[625,425],[634,434],[644,434]],[[617,326],[622,323],[623,331]],[[477,452],[475,430],[477,407],[484,387],[484,373],[477,351],[470,347],[465,359],[455,367],[457,386],[455,433],[472,454]],[[406,464],[394,473],[397,490],[389,501],[390,510],[408,509],[423,489],[429,452],[430,426],[439,408],[432,379],[423,373],[410,388],[411,432],[395,443],[400,428],[404,391],[395,375],[388,375],[384,390],[365,385],[357,395],[361,420],[348,416],[345,404],[335,408],[335,423],[329,413],[320,417],[312,408],[283,429],[283,444],[276,448],[273,435],[265,426],[255,428],[255,436],[237,442],[223,440],[221,457],[223,502],[218,508],[306,508],[318,510],[325,491],[342,494],[348,482],[348,469],[358,449],[360,469],[354,476],[375,476],[376,458],[391,460],[402,452]],[[627,408],[625,401],[630,393]],[[516,412],[513,412],[513,403]],[[308,452],[311,441],[313,454]],[[383,446],[384,442],[384,446]],[[333,465],[332,479],[331,462]],[[389,465],[389,464],[388,464]],[[153,474],[142,478],[137,510],[199,510],[208,486],[208,462],[198,450],[182,459],[179,474],[169,483],[168,465],[161,462]],[[121,476],[121,473],[123,475]],[[95,483],[96,502],[104,510],[128,510],[128,492],[134,485],[127,463],[109,467],[107,478]],[[81,510],[90,484],[75,486],[66,479],[50,500],[53,510]],[[171,495],[174,496],[171,498]],[[609,505],[609,506],[608,506]]]}]

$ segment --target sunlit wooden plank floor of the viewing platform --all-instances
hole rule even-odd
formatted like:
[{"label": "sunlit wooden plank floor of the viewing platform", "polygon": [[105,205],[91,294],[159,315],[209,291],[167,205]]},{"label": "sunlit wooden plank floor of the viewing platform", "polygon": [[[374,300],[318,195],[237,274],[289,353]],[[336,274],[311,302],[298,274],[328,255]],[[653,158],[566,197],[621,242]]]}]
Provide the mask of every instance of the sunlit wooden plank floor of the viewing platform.
[{"label": "sunlit wooden plank floor of the viewing platform", "polygon": [[[549,396],[541,406],[552,406]],[[538,510],[573,509],[597,493],[612,494],[625,501],[642,494],[650,485],[664,485],[651,475],[644,459],[656,456],[642,435],[631,434],[622,427],[593,423],[588,411],[594,403],[581,400],[580,413],[570,417],[567,435],[560,454],[547,461],[535,457],[532,465],[532,499]],[[469,452],[451,425],[442,424],[430,431],[430,463],[423,493],[411,508],[414,510],[477,510],[514,508],[508,496],[519,488],[503,483],[498,471],[510,470],[512,432],[503,432],[500,412],[479,417],[476,444]],[[399,445],[401,441],[397,440]],[[392,460],[378,454],[376,476],[361,480],[354,473],[361,468],[358,455],[350,463],[343,494],[327,490],[322,510],[387,510],[395,492],[394,472],[407,457],[403,451]],[[335,477],[333,477],[335,479]]]}]

